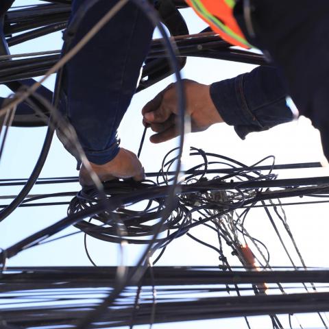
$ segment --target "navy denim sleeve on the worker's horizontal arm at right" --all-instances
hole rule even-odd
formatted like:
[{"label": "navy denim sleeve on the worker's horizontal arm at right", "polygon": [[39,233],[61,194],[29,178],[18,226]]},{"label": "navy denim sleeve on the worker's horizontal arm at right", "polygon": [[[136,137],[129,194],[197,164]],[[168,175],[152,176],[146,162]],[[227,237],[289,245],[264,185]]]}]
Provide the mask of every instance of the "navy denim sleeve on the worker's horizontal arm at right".
[{"label": "navy denim sleeve on the worker's horizontal arm at right", "polygon": [[250,73],[215,82],[210,96],[223,121],[234,125],[242,139],[249,132],[260,132],[293,120],[287,106],[287,91],[278,71],[258,66]]}]

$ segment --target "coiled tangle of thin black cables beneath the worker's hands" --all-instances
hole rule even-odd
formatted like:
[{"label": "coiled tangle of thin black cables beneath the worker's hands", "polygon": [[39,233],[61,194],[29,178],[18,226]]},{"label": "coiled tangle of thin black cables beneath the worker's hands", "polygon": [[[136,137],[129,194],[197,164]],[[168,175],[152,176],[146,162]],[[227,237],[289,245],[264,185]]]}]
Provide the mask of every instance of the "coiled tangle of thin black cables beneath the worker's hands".
[{"label": "coiled tangle of thin black cables beneath the worker's hands", "polygon": [[[154,226],[162,217],[165,207],[166,186],[172,179],[170,169],[177,160],[173,156],[174,151],[175,149],[171,150],[164,157],[156,182],[116,180],[104,184],[104,192],[108,199],[148,189],[153,192],[149,194],[149,199],[144,199],[142,202],[138,199],[129,206],[119,206],[114,211],[103,211],[90,217],[88,221],[80,221],[75,226],[94,238],[119,242],[122,238],[117,234],[117,225],[121,223],[126,231],[124,238],[129,243],[149,243],[149,237],[154,232]],[[164,247],[178,236],[186,234],[190,228],[206,221],[212,221],[216,225],[222,223],[223,226],[229,224],[231,228],[236,226],[236,223],[230,222],[234,210],[243,206],[246,200],[256,197],[260,191],[260,188],[245,189],[243,183],[276,178],[276,175],[271,173],[273,164],[269,166],[269,172],[264,175],[254,169],[255,166],[247,167],[241,162],[218,154],[208,154],[195,147],[191,148],[191,158],[193,160],[200,158],[201,161],[186,170],[184,176],[180,178],[181,192],[175,197],[174,208],[162,225],[162,237],[155,241],[158,247]],[[273,157],[265,158],[260,162],[267,159],[273,162]],[[226,182],[234,184],[234,188],[219,188],[220,184]],[[68,215],[102,202],[98,195],[95,188],[84,188],[72,199]]]}]

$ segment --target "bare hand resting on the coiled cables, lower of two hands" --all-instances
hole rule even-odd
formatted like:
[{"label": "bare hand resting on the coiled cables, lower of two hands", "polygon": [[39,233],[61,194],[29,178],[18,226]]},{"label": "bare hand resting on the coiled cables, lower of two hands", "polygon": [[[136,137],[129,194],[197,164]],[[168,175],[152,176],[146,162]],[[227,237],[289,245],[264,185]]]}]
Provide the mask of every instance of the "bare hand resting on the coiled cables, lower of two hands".
[{"label": "bare hand resting on the coiled cables, lower of two hands", "polygon": [[[136,154],[122,147],[117,156],[110,162],[106,164],[90,162],[90,165],[102,182],[115,178],[133,178],[136,181],[145,178],[143,166]],[[80,169],[79,182],[82,186],[93,185],[93,180],[84,166]]]}]

